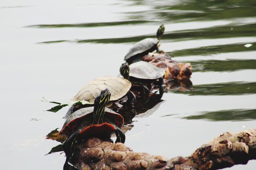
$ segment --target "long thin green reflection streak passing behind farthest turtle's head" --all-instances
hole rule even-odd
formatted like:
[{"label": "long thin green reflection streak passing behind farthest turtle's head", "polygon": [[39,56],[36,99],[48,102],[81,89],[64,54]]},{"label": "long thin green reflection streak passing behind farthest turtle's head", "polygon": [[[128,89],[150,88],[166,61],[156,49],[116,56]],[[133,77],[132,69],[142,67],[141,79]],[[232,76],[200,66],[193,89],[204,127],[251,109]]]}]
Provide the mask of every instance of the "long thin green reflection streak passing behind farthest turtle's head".
[{"label": "long thin green reflection streak passing behind farthest turtle's head", "polygon": [[[165,31],[162,40],[165,41],[184,41],[184,40],[198,40],[198,39],[217,39],[217,38],[230,38],[230,37],[251,37],[256,36],[256,23],[252,24],[230,24],[223,26],[214,26],[203,29],[184,29],[180,31],[168,32]],[[53,43],[72,41],[78,43],[131,43],[139,42],[144,38],[155,38],[155,33],[150,35],[140,35],[136,37],[124,38],[104,38],[104,39],[87,39],[87,40],[56,40],[40,43]],[[170,53],[171,55],[171,53]]]}]

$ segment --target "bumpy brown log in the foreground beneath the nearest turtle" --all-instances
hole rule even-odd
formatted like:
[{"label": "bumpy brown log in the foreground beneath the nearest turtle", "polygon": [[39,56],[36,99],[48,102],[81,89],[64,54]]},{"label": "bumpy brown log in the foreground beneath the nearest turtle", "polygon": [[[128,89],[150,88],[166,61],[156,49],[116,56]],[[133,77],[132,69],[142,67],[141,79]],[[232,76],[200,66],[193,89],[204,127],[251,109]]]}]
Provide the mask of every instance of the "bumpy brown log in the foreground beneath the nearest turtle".
[{"label": "bumpy brown log in the foreground beneath the nearest turtle", "polygon": [[[166,159],[91,138],[76,145],[79,170],[217,170],[256,159],[256,129],[225,132],[189,157]],[[71,168],[72,169],[72,168]]]}]

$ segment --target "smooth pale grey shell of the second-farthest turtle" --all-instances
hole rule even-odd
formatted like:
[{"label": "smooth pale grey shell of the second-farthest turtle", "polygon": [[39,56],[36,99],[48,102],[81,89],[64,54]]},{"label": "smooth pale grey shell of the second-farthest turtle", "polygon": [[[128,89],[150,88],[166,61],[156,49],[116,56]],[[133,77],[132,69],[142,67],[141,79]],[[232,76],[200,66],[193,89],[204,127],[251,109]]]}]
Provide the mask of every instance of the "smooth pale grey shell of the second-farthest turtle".
[{"label": "smooth pale grey shell of the second-farthest turtle", "polygon": [[158,68],[157,66],[144,61],[135,62],[129,66],[129,76],[138,79],[158,79],[163,77],[165,73],[163,68]]}]

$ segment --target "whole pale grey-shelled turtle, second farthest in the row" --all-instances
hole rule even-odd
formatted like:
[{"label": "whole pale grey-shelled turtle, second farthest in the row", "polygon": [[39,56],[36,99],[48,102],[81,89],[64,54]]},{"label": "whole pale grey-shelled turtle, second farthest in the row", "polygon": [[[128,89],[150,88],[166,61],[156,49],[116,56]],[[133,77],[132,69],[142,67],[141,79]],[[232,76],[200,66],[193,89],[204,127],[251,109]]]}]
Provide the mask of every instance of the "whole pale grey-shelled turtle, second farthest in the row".
[{"label": "whole pale grey-shelled turtle, second farthest in the row", "polygon": [[[123,63],[120,67],[120,74],[128,79],[133,85],[140,85],[144,89],[144,93],[148,94],[150,91],[147,86],[151,87],[151,83],[159,86],[159,93],[163,94],[163,76],[164,69],[148,62],[139,61],[129,64]],[[156,81],[158,80],[158,82]]]}]

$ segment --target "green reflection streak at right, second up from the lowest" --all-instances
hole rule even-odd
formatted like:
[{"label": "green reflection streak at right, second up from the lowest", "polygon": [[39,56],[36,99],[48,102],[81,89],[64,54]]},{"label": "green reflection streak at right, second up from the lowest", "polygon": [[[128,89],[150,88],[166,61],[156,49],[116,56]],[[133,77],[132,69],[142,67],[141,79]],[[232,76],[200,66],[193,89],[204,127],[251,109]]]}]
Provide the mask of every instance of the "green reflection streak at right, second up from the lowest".
[{"label": "green reflection streak at right, second up from the lowest", "polygon": [[[172,91],[173,93],[182,93]],[[184,93],[182,93],[184,94]],[[193,86],[187,95],[248,95],[256,94],[256,82],[227,82],[216,84],[201,84]]]}]

